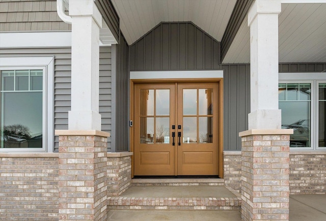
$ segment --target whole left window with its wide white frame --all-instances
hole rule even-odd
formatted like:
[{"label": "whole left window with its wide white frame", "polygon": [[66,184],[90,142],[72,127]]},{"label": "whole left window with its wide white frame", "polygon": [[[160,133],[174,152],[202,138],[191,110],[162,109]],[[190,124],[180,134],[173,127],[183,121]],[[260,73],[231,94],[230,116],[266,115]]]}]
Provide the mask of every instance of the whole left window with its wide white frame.
[{"label": "whole left window with its wide white frame", "polygon": [[52,152],[53,57],[1,58],[0,85],[0,151]]}]

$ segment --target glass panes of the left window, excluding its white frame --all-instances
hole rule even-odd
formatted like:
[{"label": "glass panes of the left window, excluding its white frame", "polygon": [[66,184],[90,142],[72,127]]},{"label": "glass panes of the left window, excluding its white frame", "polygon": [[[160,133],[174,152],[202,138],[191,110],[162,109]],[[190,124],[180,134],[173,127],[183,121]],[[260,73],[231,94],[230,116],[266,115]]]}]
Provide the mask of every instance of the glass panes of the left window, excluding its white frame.
[{"label": "glass panes of the left window, excluding its white frame", "polygon": [[[42,70],[36,72],[42,78]],[[32,77],[29,70],[1,71],[1,148],[42,148],[43,78],[33,90]]]}]

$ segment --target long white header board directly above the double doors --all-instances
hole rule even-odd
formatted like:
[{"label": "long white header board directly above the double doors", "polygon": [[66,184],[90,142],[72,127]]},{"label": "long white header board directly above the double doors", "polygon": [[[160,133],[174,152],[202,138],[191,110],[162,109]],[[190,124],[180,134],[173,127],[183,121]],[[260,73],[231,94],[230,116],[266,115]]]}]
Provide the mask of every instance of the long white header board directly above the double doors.
[{"label": "long white header board directly above the double doors", "polygon": [[223,70],[213,71],[131,71],[130,79],[223,78]]}]

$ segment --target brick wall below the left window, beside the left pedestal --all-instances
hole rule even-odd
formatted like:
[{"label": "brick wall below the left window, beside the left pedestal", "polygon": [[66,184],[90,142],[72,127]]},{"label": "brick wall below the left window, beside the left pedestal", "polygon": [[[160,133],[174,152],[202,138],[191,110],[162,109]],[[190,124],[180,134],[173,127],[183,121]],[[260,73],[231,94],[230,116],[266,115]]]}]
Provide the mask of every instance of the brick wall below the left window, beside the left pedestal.
[{"label": "brick wall below the left window, beside the left pedestal", "polygon": [[1,155],[0,220],[58,220],[58,153]]}]

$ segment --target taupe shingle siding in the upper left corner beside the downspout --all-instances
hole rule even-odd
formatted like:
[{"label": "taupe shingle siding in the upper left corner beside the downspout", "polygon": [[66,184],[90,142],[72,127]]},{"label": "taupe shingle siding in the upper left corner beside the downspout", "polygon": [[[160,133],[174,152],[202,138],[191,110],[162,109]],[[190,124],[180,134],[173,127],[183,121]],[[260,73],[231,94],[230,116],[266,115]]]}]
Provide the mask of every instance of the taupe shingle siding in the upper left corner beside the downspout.
[{"label": "taupe shingle siding in the upper left corner beside the downspout", "polygon": [[56,0],[1,0],[0,31],[71,30],[57,14]]}]

